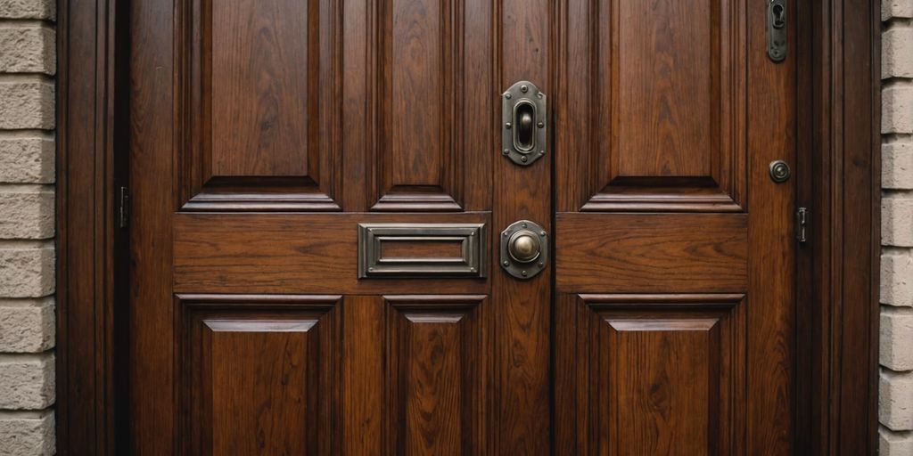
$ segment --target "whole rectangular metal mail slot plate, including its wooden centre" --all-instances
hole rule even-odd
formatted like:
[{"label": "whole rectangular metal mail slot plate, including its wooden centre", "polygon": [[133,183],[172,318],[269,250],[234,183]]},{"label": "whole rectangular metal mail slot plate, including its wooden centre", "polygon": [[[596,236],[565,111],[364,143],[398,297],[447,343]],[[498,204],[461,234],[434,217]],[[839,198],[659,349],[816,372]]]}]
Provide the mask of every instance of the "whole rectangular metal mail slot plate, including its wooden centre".
[{"label": "whole rectangular metal mail slot plate, including its wooden centre", "polygon": [[358,278],[487,274],[485,223],[359,223]]}]

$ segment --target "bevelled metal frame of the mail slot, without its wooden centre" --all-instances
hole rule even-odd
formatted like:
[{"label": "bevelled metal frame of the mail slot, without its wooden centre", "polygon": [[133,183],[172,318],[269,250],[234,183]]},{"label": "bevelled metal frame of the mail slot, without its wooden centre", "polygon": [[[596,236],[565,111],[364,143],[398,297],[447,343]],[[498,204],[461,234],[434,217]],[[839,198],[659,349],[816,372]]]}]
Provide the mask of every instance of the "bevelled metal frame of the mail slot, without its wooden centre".
[{"label": "bevelled metal frame of the mail slot, without its wooden centre", "polygon": [[[463,257],[457,262],[415,258],[384,264],[383,238],[454,236],[463,238]],[[471,277],[484,278],[488,271],[485,223],[359,223],[358,278]]]}]

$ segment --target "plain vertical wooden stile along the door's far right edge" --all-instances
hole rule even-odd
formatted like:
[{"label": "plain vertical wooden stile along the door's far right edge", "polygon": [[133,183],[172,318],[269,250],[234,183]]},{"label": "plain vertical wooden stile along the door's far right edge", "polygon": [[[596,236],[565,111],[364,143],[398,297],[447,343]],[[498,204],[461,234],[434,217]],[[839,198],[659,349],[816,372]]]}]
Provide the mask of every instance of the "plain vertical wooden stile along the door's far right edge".
[{"label": "plain vertical wooden stile along the door's far right edge", "polygon": [[[766,39],[765,5],[750,3],[747,25],[751,43]],[[793,23],[794,26],[794,23]],[[791,28],[792,34],[796,33]],[[793,35],[794,36],[794,35]],[[771,65],[750,53],[749,123],[749,315],[750,391],[747,449],[794,454],[796,397],[796,243],[793,211],[796,184],[771,181],[769,164],[796,162],[796,59],[791,53]],[[771,131],[780,132],[771,135]],[[771,284],[783,284],[771,286]]]}]

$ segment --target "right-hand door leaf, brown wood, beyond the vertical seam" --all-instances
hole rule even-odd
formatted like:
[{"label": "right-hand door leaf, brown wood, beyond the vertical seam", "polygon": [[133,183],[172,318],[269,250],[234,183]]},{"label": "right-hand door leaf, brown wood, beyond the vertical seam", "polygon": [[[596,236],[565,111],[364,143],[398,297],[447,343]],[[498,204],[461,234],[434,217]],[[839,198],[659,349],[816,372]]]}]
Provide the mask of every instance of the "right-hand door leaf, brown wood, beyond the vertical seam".
[{"label": "right-hand door leaf, brown wood, beyond the vertical seam", "polygon": [[790,454],[794,57],[764,2],[562,13],[557,452]]}]

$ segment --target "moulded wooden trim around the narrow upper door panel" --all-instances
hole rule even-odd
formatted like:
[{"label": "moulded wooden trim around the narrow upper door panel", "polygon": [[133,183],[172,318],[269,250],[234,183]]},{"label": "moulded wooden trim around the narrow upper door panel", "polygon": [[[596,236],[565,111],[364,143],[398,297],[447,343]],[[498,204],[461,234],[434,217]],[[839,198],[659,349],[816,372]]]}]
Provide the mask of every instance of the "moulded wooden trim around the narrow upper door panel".
[{"label": "moulded wooden trim around the narrow upper door panel", "polygon": [[[464,210],[464,156],[465,130],[460,119],[466,109],[464,91],[467,74],[464,65],[464,0],[438,0],[439,8],[428,16],[436,15],[439,28],[439,67],[423,71],[424,76],[440,77],[439,91],[434,97],[411,100],[394,106],[396,101],[394,71],[409,72],[403,62],[394,58],[394,8],[398,0],[378,2],[372,8],[375,41],[373,47],[375,72],[369,84],[373,100],[373,127],[376,140],[373,143],[373,169],[369,172],[369,202],[372,211],[379,212],[459,212]],[[415,4],[418,5],[418,4]],[[429,19],[430,20],[430,19]],[[424,31],[424,30],[422,30]],[[422,41],[419,41],[422,42]],[[402,44],[402,43],[400,43]],[[414,43],[413,43],[414,44]],[[396,170],[404,163],[395,159],[394,141],[397,129],[406,128],[408,119],[401,111],[415,110],[422,106],[438,105],[439,121],[434,131],[436,140],[423,143],[422,154],[437,154],[437,166],[420,170]],[[433,179],[421,184],[399,181],[403,176],[427,173]]]}]

